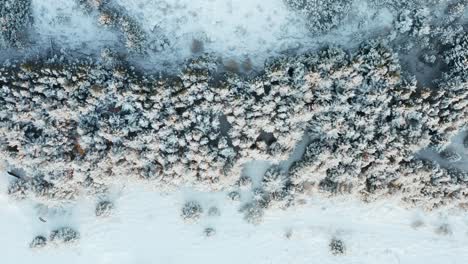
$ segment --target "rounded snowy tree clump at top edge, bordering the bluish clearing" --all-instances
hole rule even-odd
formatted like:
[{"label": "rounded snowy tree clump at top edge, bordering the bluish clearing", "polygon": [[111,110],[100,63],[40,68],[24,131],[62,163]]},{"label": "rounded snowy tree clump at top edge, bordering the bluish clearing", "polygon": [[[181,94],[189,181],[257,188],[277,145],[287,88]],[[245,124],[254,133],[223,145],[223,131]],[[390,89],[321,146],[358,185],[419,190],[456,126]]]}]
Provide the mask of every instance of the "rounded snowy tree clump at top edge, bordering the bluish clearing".
[{"label": "rounded snowy tree clump at top edge, bordering the bluish clearing", "polygon": [[339,26],[351,10],[352,0],[284,0],[291,9],[303,14],[314,33]]}]

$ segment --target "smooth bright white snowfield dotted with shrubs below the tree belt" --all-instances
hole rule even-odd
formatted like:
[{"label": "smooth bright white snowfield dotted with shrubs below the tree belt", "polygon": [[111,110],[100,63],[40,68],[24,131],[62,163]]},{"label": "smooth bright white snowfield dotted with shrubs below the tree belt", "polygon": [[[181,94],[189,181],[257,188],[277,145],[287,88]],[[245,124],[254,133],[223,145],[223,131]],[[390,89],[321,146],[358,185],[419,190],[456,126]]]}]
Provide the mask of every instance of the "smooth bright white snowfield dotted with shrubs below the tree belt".
[{"label": "smooth bright white snowfield dotted with shrubs below the tree belt", "polygon": [[[116,184],[108,197],[115,210],[94,215],[96,200],[44,208],[28,200],[12,201],[0,185],[1,263],[466,263],[468,217],[457,211],[422,212],[395,201],[371,204],[352,197],[312,197],[299,207],[268,210],[263,223],[251,225],[238,212],[241,202],[225,193],[188,188],[161,193],[139,184]],[[204,209],[199,222],[180,217],[182,205],[197,200]],[[211,206],[220,216],[208,216]],[[47,222],[39,220],[42,217]],[[418,224],[416,224],[418,223]],[[448,225],[449,234],[436,230]],[[73,245],[30,249],[36,235],[70,226],[80,232]],[[205,237],[212,227],[216,234]],[[286,234],[290,234],[289,238]],[[346,245],[335,256],[333,237]]]}]

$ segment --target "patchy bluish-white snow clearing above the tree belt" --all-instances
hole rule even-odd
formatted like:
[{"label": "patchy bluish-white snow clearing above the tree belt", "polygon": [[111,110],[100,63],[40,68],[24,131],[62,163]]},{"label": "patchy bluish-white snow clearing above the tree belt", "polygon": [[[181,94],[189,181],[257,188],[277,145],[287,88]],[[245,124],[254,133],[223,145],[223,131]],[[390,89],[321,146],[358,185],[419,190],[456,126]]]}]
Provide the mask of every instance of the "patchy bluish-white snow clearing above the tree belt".
[{"label": "patchy bluish-white snow clearing above the tree belt", "polygon": [[[312,35],[304,17],[286,7],[283,0],[114,0],[135,21],[150,41],[164,36],[169,46],[138,62],[153,68],[180,63],[193,54],[194,40],[203,52],[225,61],[249,60],[263,66],[266,59],[291,52],[311,51],[323,45],[352,48],[369,35],[385,32],[393,21],[386,10],[373,10],[356,1],[343,25],[324,35]],[[52,45],[85,55],[99,54],[118,41],[118,33],[99,25],[75,1],[33,0],[37,46]],[[154,30],[156,29],[156,30]],[[155,33],[156,32],[156,33]]]}]

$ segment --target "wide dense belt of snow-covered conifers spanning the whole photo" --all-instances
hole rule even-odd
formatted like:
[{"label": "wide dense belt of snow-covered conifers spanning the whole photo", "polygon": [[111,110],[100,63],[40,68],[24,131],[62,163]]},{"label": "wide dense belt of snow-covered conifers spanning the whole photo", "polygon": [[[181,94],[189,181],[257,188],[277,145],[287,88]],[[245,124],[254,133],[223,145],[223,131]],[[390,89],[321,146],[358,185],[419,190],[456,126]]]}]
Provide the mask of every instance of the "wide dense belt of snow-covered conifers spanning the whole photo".
[{"label": "wide dense belt of snow-covered conifers spanning the whole photo", "polygon": [[[403,77],[379,41],[352,54],[330,47],[278,58],[254,78],[222,72],[211,55],[187,61],[177,76],[58,58],[5,64],[0,153],[14,179],[9,192],[74,199],[122,178],[249,186],[245,162],[277,164],[306,137],[289,171],[274,165],[265,173],[244,207],[248,218],[313,190],[411,201],[441,192],[429,204],[465,199],[462,171],[440,168],[457,180],[432,180],[415,155],[431,148],[456,156],[446,147],[468,118],[464,46],[465,35],[446,44],[447,71],[431,89]],[[408,181],[416,175],[418,184]]]}]

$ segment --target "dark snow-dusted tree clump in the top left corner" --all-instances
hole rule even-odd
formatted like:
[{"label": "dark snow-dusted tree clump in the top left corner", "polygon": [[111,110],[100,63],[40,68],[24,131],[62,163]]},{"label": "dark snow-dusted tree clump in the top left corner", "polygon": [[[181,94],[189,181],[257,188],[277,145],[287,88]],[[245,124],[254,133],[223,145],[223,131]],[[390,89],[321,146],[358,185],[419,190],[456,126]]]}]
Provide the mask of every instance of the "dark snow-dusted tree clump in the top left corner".
[{"label": "dark snow-dusted tree clump in the top left corner", "polygon": [[0,48],[20,48],[26,44],[31,12],[31,0],[0,1]]}]

